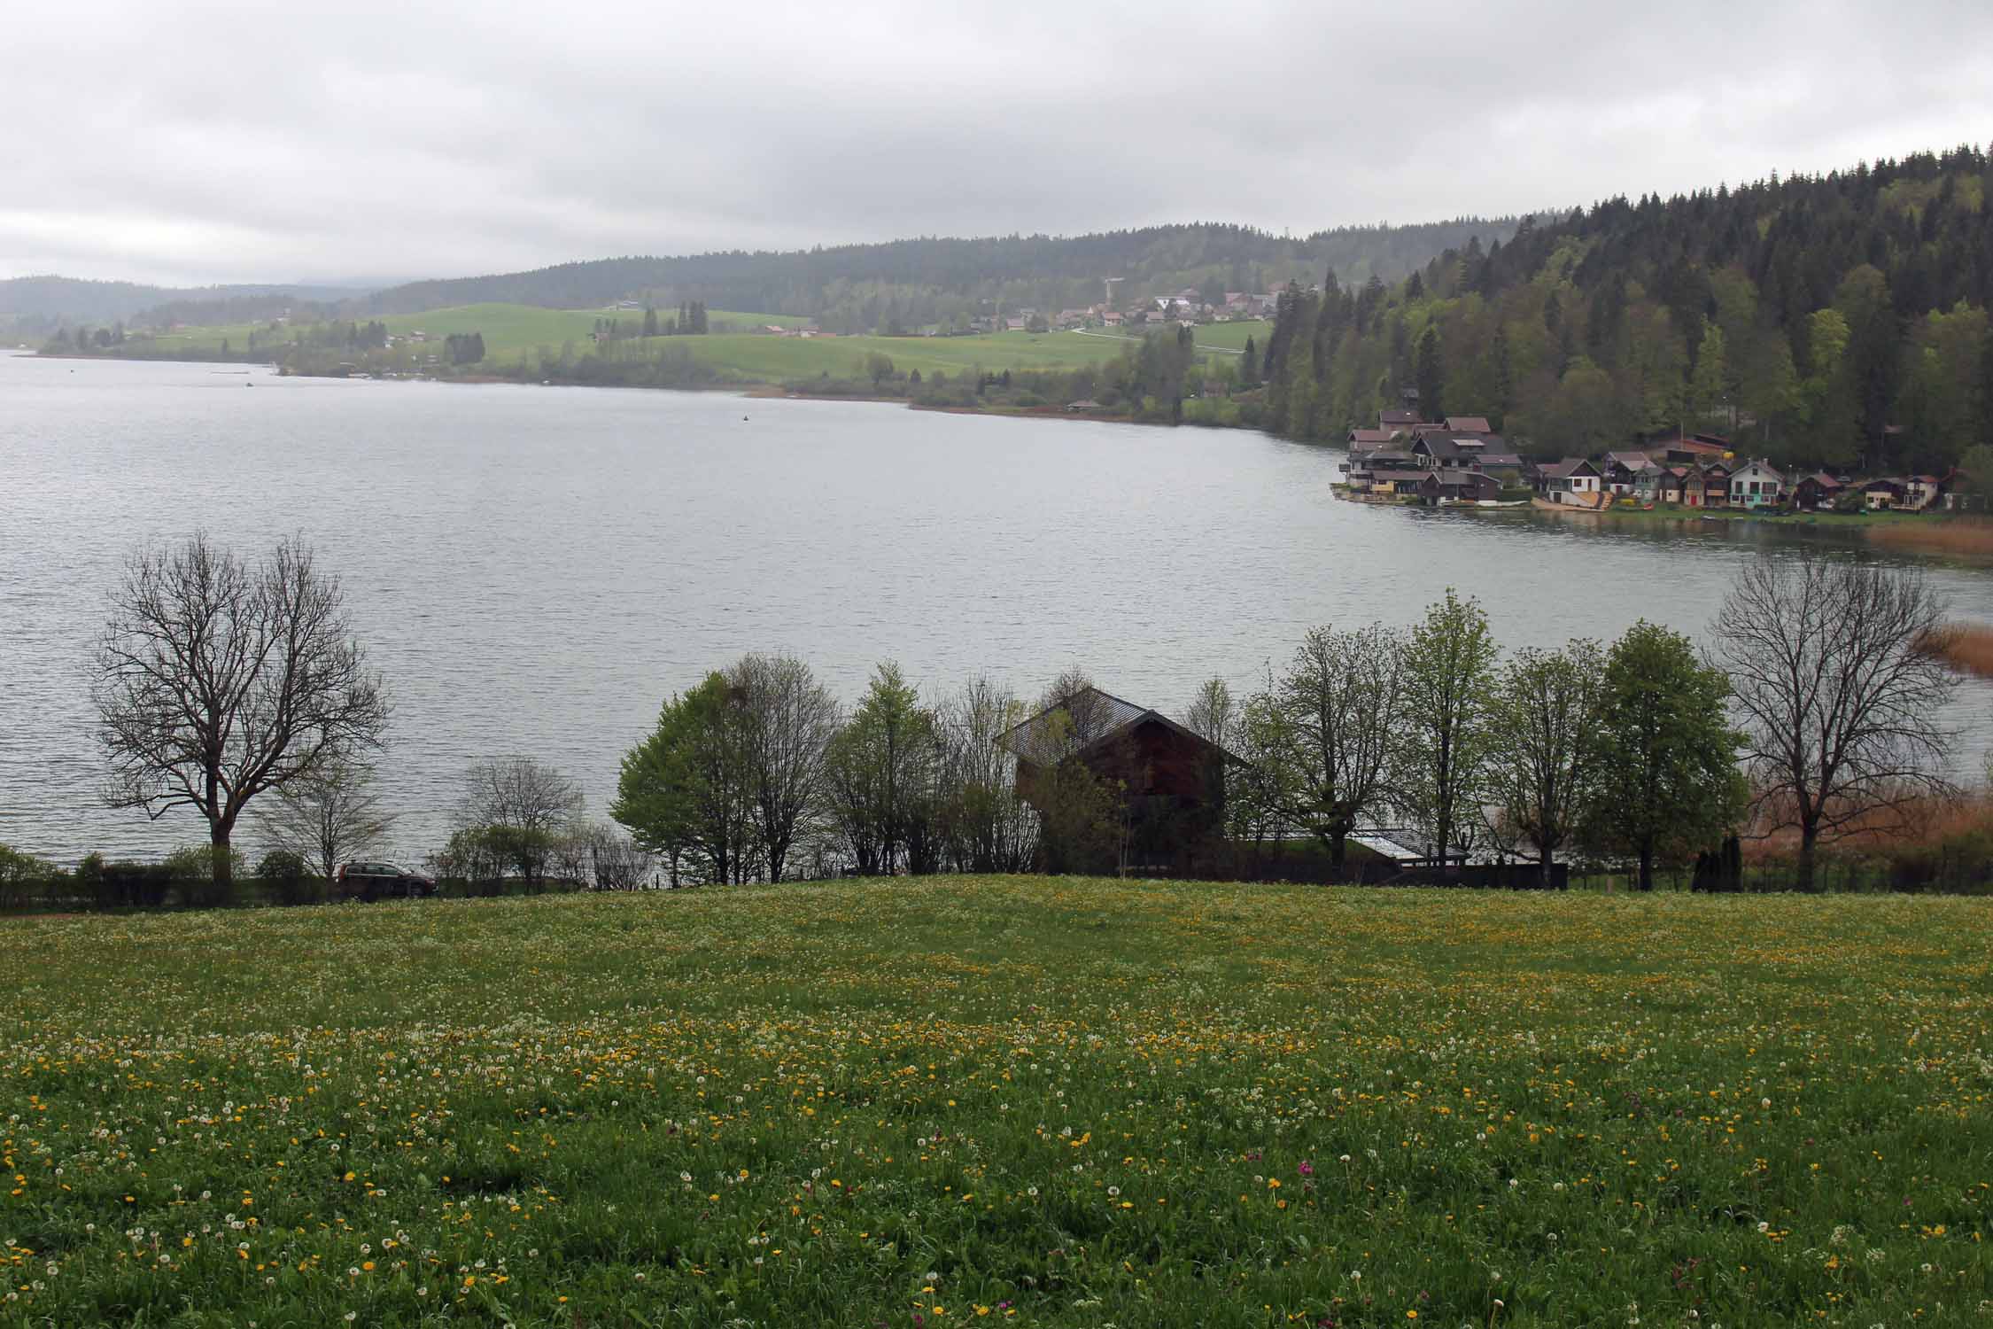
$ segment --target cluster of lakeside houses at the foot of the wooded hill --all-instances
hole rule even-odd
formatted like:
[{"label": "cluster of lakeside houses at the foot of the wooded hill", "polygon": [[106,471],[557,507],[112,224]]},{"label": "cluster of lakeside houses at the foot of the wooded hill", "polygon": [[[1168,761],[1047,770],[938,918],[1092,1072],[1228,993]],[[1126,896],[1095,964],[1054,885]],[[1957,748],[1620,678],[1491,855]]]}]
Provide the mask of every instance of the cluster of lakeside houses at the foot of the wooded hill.
[{"label": "cluster of lakeside houses at the foot of the wooded hill", "polygon": [[1853,476],[1780,470],[1738,458],[1720,434],[1674,430],[1638,448],[1539,462],[1489,428],[1487,416],[1427,420],[1417,395],[1385,410],[1377,428],[1353,428],[1337,496],[1425,506],[1539,506],[1602,512],[1612,506],[1746,512],[1951,512],[1977,508],[1965,476]]}]

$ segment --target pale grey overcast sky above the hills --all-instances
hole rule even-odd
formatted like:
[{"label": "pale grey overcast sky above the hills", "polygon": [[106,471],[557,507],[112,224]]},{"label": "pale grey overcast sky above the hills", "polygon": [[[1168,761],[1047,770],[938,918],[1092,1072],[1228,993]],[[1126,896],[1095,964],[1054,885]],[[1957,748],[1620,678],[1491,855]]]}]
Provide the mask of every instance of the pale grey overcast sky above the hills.
[{"label": "pale grey overcast sky above the hills", "polygon": [[1529,211],[1993,139],[1993,4],[74,0],[0,36],[0,277]]}]

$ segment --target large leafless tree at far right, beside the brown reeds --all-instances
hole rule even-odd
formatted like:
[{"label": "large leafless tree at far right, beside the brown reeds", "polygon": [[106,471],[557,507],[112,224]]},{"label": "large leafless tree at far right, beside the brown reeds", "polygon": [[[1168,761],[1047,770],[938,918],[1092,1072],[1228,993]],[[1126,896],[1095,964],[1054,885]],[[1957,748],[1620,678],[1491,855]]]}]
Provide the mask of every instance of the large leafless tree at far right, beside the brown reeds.
[{"label": "large leafless tree at far right, beside the brown reeds", "polygon": [[1822,837],[1951,791],[1941,713],[1943,602],[1921,572],[1808,550],[1758,558],[1714,624],[1710,662],[1744,717],[1760,825],[1800,831],[1798,887]]}]

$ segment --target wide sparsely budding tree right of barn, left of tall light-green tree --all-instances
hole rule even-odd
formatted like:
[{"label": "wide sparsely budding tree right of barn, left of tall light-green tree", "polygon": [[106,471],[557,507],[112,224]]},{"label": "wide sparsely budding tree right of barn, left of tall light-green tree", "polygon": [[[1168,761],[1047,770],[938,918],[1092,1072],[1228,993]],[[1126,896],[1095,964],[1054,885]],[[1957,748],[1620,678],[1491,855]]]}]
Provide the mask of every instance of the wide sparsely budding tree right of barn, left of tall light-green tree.
[{"label": "wide sparsely budding tree right of barn, left of tall light-green tree", "polygon": [[1268,679],[1256,707],[1272,721],[1266,741],[1280,777],[1268,785],[1283,813],[1307,827],[1343,865],[1349,833],[1389,795],[1395,725],[1403,723],[1405,640],[1371,624],[1355,632],[1315,628],[1287,671]]}]

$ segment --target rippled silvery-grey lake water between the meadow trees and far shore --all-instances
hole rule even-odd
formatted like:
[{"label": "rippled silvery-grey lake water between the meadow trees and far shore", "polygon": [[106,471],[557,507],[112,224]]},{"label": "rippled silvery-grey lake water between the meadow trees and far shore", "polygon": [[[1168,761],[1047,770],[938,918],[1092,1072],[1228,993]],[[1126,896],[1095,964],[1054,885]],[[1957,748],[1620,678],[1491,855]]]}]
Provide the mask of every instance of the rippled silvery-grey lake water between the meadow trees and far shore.
[{"label": "rippled silvery-grey lake water between the meadow trees and far shore", "polygon": [[[1365,508],[1329,498],[1337,462],[1248,432],[0,357],[0,841],[74,861],[203,839],[187,811],[104,809],[88,699],[122,562],[195,528],[243,552],[301,532],[345,578],[395,693],[405,859],[482,757],[550,761],[602,815],[658,703],[749,650],[847,699],[879,660],[1022,693],[1080,664],[1172,711],[1309,626],[1411,622],[1447,586],[1507,646],[1698,634],[1744,560],[1806,538]],[[1993,622],[1993,574],[1933,576]],[[1961,691],[1965,769],[1989,699]]]}]

